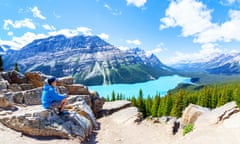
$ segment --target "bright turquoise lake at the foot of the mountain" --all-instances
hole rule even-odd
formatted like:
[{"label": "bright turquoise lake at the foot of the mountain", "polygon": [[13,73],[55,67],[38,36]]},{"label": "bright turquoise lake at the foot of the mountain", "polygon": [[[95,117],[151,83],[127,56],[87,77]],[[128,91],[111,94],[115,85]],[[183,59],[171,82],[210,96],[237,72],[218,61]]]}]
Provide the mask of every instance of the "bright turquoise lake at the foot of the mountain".
[{"label": "bright turquoise lake at the foot of the mountain", "polygon": [[112,85],[100,85],[100,86],[89,86],[89,90],[94,90],[99,93],[102,97],[111,97],[112,92],[115,94],[122,93],[126,98],[135,96],[139,94],[139,90],[142,89],[143,97],[155,96],[160,93],[160,96],[167,94],[167,91],[175,88],[179,83],[191,83],[190,78],[181,77],[178,75],[174,76],[164,76],[157,80],[151,80],[143,83],[135,84],[112,84]]}]

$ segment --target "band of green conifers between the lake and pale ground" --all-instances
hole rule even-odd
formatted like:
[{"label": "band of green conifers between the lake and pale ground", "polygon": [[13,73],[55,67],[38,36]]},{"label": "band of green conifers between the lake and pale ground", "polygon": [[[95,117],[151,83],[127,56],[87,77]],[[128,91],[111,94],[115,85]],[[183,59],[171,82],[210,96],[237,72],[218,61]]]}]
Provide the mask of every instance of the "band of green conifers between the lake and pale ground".
[{"label": "band of green conifers between the lake and pale ground", "polygon": [[132,102],[133,106],[138,107],[144,117],[153,116],[174,116],[181,117],[183,110],[190,104],[197,104],[210,109],[219,107],[230,101],[236,101],[240,107],[240,84],[237,82],[202,86],[201,89],[178,89],[169,91],[167,95],[161,97],[160,94],[155,96],[143,96],[140,89],[137,97],[125,98],[122,94],[112,92],[108,101],[127,99]]}]

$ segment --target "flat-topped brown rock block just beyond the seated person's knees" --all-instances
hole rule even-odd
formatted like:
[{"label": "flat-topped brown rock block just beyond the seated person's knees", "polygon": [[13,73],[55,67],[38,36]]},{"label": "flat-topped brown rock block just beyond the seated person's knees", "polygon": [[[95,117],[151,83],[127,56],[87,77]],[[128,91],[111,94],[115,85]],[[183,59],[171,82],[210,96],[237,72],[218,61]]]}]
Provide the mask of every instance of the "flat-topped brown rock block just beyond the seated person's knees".
[{"label": "flat-topped brown rock block just beyond the seated person's knees", "polygon": [[88,88],[84,85],[80,84],[73,84],[73,85],[66,85],[68,94],[69,95],[89,95]]}]

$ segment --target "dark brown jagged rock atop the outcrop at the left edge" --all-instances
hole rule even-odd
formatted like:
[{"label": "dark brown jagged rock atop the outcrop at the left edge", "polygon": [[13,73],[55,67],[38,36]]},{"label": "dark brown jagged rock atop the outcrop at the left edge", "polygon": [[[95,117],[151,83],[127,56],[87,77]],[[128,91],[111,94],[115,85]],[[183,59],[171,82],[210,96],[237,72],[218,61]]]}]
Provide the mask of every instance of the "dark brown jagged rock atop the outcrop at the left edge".
[{"label": "dark brown jagged rock atop the outcrop at the left edge", "polygon": [[23,74],[15,70],[10,72],[2,72],[1,74],[2,74],[2,77],[5,80],[7,80],[10,84],[13,84],[13,83],[22,84],[22,83],[28,82],[27,78]]}]

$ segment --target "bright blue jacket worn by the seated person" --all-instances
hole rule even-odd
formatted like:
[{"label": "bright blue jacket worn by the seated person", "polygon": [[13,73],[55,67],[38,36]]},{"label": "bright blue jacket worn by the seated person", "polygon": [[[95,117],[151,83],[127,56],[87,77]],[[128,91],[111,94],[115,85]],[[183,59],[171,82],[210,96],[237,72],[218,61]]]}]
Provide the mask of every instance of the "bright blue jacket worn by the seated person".
[{"label": "bright blue jacket worn by the seated person", "polygon": [[58,94],[53,86],[45,84],[42,91],[42,105],[48,109],[52,102],[59,102],[66,98],[64,95]]}]

